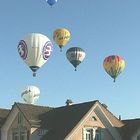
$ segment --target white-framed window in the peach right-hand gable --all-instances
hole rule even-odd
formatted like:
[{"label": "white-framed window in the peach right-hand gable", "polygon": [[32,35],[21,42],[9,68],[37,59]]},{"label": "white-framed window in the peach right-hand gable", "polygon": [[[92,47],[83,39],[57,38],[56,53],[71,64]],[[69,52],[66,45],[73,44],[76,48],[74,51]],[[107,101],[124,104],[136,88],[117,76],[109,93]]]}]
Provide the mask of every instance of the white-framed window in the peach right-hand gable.
[{"label": "white-framed window in the peach right-hand gable", "polygon": [[86,127],[83,134],[83,140],[101,140],[101,130],[97,127]]}]

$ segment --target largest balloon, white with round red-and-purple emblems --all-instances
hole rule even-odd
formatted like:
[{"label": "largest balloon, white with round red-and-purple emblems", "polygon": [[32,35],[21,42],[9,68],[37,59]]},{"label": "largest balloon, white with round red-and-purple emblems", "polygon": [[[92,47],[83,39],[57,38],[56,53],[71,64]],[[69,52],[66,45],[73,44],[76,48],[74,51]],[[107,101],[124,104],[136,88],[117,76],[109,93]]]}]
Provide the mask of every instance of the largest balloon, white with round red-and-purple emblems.
[{"label": "largest balloon, white with round red-and-purple emblems", "polygon": [[43,66],[52,53],[53,45],[48,37],[39,33],[27,34],[18,44],[18,53],[33,71]]}]

